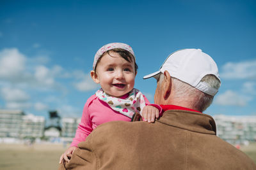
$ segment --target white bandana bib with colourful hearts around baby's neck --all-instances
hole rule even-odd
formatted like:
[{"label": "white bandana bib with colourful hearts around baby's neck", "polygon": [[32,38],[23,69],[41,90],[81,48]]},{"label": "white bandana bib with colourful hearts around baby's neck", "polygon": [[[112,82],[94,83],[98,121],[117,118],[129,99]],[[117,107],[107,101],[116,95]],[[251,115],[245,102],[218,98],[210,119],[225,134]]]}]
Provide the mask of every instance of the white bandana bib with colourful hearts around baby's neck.
[{"label": "white bandana bib with colourful hearts around baby's neck", "polygon": [[132,118],[134,113],[140,113],[141,115],[141,111],[146,105],[143,94],[135,88],[129,92],[129,96],[125,99],[108,96],[103,89],[99,89],[96,92],[96,96],[101,101],[108,103],[113,110],[118,111],[129,118]]}]

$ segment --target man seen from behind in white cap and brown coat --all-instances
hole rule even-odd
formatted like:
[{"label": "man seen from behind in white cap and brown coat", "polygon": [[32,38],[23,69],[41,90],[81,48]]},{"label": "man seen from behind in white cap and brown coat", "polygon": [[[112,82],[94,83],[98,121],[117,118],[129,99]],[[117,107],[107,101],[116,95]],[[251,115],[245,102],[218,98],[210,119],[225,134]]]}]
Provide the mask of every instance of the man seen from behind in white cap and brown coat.
[{"label": "man seen from behind in white cap and brown coat", "polygon": [[154,100],[163,117],[154,124],[100,125],[60,169],[256,169],[243,152],[216,136],[214,120],[202,113],[220,87],[209,55],[179,50],[144,78],[150,77],[157,79]]}]

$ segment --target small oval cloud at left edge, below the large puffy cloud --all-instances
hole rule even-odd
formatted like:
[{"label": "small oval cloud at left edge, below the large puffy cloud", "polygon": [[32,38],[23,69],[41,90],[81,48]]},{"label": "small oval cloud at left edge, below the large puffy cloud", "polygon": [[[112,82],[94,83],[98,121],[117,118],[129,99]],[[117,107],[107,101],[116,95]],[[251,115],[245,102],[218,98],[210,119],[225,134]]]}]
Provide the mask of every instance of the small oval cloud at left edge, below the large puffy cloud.
[{"label": "small oval cloud at left edge, below the large puffy cloud", "polygon": [[29,100],[29,95],[20,89],[11,89],[4,87],[1,89],[1,96],[5,101],[24,102]]}]

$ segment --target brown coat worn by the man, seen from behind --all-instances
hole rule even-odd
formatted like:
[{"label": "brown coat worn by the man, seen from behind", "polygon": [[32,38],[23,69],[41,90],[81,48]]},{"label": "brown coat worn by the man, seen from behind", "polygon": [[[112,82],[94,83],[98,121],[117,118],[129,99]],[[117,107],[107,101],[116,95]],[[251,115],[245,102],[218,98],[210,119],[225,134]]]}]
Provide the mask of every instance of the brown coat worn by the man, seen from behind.
[{"label": "brown coat worn by the man, seen from behind", "polygon": [[212,117],[168,110],[154,124],[109,122],[79,143],[59,169],[256,169],[246,154],[216,136]]}]

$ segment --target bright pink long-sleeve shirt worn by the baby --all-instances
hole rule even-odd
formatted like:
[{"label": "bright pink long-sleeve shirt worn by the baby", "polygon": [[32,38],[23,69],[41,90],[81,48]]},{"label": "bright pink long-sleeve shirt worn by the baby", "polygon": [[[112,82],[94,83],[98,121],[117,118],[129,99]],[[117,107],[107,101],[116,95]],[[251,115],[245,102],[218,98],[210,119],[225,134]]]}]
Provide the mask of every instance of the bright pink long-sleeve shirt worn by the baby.
[{"label": "bright pink long-sleeve shirt worn by the baby", "polygon": [[[121,97],[125,99],[129,94]],[[150,104],[147,97],[143,96],[146,105]],[[152,104],[154,106],[154,104]],[[119,113],[118,111],[112,110],[108,103],[101,101],[96,97],[95,94],[91,96],[84,104],[83,115],[81,123],[78,125],[76,130],[76,136],[73,139],[70,146],[77,146],[81,141],[85,141],[87,136],[95,129],[98,125],[112,121],[131,121],[131,118]]]}]

